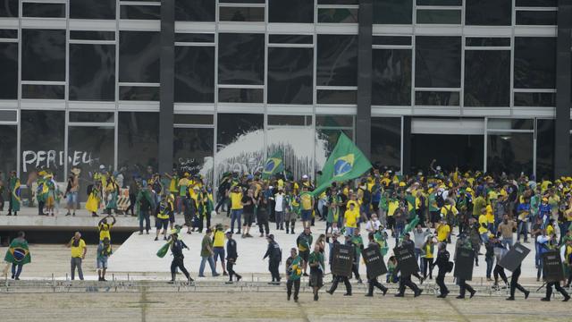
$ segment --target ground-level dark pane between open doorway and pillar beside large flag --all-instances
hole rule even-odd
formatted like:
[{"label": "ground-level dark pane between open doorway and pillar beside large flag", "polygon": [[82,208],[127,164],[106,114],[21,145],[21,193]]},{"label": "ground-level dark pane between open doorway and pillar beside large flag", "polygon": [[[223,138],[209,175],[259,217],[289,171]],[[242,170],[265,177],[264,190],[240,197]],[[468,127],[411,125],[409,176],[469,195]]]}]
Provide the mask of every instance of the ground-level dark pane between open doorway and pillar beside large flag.
[{"label": "ground-level dark pane between open doorway and pillar beside large flag", "polygon": [[374,167],[401,167],[401,118],[372,117],[371,162]]}]

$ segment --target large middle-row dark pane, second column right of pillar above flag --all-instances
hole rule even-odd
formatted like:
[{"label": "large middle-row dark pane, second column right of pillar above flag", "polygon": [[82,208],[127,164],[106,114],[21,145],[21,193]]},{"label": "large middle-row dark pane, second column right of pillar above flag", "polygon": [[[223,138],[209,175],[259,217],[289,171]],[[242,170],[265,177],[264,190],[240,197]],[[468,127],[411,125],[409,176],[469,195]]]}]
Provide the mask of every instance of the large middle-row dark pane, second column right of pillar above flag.
[{"label": "large middle-row dark pane, second column right of pillar above flag", "polygon": [[460,37],[416,37],[416,87],[458,88],[460,76]]}]

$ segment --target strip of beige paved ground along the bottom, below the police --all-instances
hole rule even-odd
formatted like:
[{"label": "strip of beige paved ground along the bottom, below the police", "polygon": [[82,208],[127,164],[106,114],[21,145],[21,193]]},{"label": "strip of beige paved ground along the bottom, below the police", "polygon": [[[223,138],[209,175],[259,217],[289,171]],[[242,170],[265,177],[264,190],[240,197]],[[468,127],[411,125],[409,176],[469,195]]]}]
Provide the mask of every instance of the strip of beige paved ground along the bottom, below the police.
[{"label": "strip of beige paved ground along the bottom, below the police", "polygon": [[496,298],[398,299],[284,293],[118,292],[0,294],[2,321],[569,321],[570,303]]}]

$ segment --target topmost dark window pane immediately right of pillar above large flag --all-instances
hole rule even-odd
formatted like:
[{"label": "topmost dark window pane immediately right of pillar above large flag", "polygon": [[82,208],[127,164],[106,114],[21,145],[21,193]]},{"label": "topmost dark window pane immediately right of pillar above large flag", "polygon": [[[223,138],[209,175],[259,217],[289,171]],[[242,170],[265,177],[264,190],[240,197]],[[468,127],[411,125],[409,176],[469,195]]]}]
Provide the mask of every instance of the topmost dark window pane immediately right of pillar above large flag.
[{"label": "topmost dark window pane immediately right of pillar above large flag", "polygon": [[374,1],[374,23],[411,24],[413,0]]}]

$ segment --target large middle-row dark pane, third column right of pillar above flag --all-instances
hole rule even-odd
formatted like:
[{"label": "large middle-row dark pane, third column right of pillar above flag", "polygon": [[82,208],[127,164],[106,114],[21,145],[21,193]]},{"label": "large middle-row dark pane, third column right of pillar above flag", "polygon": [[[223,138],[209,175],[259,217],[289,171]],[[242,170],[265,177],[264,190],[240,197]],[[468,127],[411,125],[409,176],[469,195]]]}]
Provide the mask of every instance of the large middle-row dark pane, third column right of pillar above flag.
[{"label": "large middle-row dark pane, third column right of pillar above flag", "polygon": [[465,51],[465,106],[510,106],[510,51]]}]

